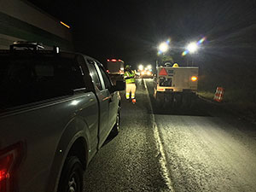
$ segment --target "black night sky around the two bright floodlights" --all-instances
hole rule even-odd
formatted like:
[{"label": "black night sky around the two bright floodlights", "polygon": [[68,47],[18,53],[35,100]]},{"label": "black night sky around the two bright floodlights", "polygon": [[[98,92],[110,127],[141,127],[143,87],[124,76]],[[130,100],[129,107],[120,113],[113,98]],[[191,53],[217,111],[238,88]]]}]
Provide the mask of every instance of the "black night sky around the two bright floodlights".
[{"label": "black night sky around the two bright floodlights", "polygon": [[[34,1],[30,1],[35,3]],[[77,51],[103,63],[119,58],[154,64],[157,46],[171,38],[169,54],[181,66],[225,62],[255,65],[256,0],[44,0],[35,3],[72,27]],[[185,45],[207,37],[195,55]]]}]

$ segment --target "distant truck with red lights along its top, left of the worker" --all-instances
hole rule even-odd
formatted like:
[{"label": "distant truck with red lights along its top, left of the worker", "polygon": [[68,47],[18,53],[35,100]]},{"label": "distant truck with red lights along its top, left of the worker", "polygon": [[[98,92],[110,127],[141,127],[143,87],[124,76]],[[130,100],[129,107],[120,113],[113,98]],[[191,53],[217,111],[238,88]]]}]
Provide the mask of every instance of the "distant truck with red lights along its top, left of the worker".
[{"label": "distant truck with red lights along its top, left of the worker", "polygon": [[111,59],[107,62],[107,72],[113,84],[117,80],[122,80],[124,75],[125,62],[120,59]]}]

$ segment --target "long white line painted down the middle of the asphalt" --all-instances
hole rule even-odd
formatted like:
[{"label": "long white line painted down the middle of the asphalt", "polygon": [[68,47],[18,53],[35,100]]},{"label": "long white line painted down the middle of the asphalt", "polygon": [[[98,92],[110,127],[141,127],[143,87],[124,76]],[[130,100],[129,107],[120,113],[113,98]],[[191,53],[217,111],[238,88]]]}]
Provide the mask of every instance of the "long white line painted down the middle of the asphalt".
[{"label": "long white line painted down the middle of the asphalt", "polygon": [[[143,83],[144,83],[145,89],[148,92],[148,87],[147,87],[147,84],[145,82],[145,79],[143,79]],[[148,97],[150,110],[153,112],[152,104],[151,104],[150,98],[149,98],[149,92],[147,94],[147,97]],[[160,140],[159,129],[158,129],[156,123],[155,123],[154,113],[151,114],[151,120],[152,120],[152,124],[153,124],[154,139],[156,141],[156,148],[158,149],[159,154],[160,154],[159,161],[160,161],[160,166],[161,166],[161,171],[162,171],[161,173],[162,173],[163,178],[166,180],[166,185],[167,185],[168,189],[172,192],[175,192],[175,190],[172,187],[173,185],[172,185],[172,180],[171,180],[171,177],[170,177],[170,173],[167,169],[166,154],[165,154],[164,147],[163,147],[163,145],[161,143],[161,140]]]}]

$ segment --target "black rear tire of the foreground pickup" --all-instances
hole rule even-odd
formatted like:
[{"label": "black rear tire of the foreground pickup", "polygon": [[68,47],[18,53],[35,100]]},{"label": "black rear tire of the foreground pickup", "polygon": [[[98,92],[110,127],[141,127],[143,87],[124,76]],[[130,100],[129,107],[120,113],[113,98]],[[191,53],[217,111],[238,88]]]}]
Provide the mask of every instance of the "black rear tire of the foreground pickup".
[{"label": "black rear tire of the foreground pickup", "polygon": [[83,191],[83,166],[76,156],[67,157],[61,172],[58,192]]}]

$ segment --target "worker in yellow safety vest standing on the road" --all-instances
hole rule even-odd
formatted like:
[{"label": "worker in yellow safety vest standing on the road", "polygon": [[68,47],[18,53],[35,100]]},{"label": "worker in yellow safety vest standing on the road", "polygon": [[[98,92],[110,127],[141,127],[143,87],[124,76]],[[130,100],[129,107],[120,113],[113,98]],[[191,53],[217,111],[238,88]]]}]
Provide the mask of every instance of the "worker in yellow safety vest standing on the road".
[{"label": "worker in yellow safety vest standing on the road", "polygon": [[136,102],[136,100],[135,100],[135,91],[136,91],[135,73],[131,70],[131,67],[129,65],[125,66],[124,79],[125,79],[125,84],[126,84],[125,97],[127,100],[129,100],[130,93],[131,93],[131,100],[133,103],[135,103]]}]

